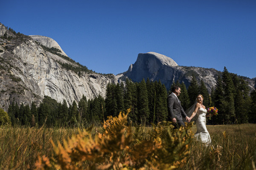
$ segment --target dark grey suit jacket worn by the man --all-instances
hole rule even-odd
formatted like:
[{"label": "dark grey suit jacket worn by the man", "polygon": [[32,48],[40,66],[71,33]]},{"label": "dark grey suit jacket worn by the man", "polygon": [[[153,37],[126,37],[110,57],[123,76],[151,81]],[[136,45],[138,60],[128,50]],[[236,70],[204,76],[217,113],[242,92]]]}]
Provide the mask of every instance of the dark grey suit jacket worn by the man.
[{"label": "dark grey suit jacket worn by the man", "polygon": [[182,121],[182,117],[186,117],[186,113],[182,106],[180,105],[180,102],[178,101],[175,94],[170,94],[167,97],[167,107],[168,107],[168,119],[176,118],[177,120]]}]

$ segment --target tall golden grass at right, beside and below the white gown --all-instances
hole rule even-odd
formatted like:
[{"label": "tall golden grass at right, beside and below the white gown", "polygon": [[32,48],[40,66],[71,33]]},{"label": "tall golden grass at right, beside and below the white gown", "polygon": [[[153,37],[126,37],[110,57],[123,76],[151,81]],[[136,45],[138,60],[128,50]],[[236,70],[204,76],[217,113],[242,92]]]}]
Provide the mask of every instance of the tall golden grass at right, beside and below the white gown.
[{"label": "tall golden grass at right, beside and below the white gown", "polygon": [[[255,170],[256,125],[209,125],[212,145],[193,140],[185,169]],[[196,126],[192,127],[196,131]]]}]

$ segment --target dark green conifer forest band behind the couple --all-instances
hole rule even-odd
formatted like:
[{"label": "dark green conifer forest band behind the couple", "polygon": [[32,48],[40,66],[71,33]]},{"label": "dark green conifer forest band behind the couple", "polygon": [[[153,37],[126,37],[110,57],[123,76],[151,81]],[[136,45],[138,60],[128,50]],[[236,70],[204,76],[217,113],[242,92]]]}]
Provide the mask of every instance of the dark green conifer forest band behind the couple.
[{"label": "dark green conifer forest band behind the couple", "polygon": [[[218,108],[218,116],[208,119],[208,124],[241,124],[256,123],[256,89],[251,93],[247,82],[234,74],[230,74],[226,68],[222,76],[218,76],[215,88],[209,95],[204,82],[196,81],[193,75],[188,89],[182,82],[174,82],[181,88],[179,99],[186,110],[194,102],[198,94],[204,96],[203,104],[208,107]],[[77,104],[69,107],[64,100],[58,103],[55,99],[45,96],[43,102],[36,107],[32,102],[29,105],[18,106],[15,102],[9,105],[8,115],[12,125],[29,125],[44,123],[51,126],[89,126],[101,123],[108,116],[118,116],[120,111],[131,108],[129,123],[133,125],[151,125],[170,120],[167,111],[167,96],[171,91],[166,89],[160,80],[151,82],[143,79],[141,82],[132,82],[126,79],[124,83],[108,84],[105,99],[98,96],[95,99],[81,98]]]}]

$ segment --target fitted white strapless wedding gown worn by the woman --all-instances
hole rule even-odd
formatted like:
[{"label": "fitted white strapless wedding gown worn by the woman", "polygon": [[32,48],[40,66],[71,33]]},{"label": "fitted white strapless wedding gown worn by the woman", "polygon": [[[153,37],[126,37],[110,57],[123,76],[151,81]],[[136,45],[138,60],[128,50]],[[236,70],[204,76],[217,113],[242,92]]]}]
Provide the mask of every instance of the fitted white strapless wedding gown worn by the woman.
[{"label": "fitted white strapless wedding gown worn by the woman", "polygon": [[206,128],[206,113],[207,110],[204,108],[200,108],[197,111],[197,116],[198,119],[196,121],[196,127],[197,127],[197,132],[195,133],[195,138],[201,140],[205,144],[210,144],[211,137],[210,134]]}]

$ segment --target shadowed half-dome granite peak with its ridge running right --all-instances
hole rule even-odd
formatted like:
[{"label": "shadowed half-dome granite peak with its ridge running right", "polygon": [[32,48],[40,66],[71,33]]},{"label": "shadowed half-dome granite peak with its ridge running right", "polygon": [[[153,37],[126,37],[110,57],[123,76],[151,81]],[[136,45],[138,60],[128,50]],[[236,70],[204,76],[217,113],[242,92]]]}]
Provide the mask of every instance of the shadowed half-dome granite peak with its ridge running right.
[{"label": "shadowed half-dome granite peak with its ridge running right", "polygon": [[[221,71],[214,68],[186,67],[179,66],[173,59],[155,52],[138,54],[137,61],[131,64],[128,71],[117,75],[119,79],[125,81],[129,78],[135,82],[140,82],[143,78],[151,81],[161,81],[170,89],[172,82],[184,82],[186,87],[190,85],[192,75],[195,75],[198,82],[204,81],[209,93],[211,88],[216,85],[218,75]],[[250,89],[254,89],[255,80],[243,77]]]}]

